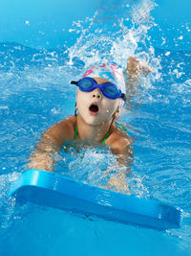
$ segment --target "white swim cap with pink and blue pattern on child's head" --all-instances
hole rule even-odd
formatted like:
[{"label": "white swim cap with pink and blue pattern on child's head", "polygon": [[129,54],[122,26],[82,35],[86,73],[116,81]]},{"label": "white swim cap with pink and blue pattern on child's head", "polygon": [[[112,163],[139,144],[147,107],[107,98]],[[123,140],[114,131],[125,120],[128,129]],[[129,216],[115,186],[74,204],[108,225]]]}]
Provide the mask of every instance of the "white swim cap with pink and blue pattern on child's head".
[{"label": "white swim cap with pink and blue pattern on child's head", "polygon": [[[123,78],[122,68],[117,63],[110,60],[103,60],[92,64],[83,75],[83,78],[102,78],[111,81],[126,94],[126,86]],[[122,107],[124,101],[120,99],[119,107]]]}]

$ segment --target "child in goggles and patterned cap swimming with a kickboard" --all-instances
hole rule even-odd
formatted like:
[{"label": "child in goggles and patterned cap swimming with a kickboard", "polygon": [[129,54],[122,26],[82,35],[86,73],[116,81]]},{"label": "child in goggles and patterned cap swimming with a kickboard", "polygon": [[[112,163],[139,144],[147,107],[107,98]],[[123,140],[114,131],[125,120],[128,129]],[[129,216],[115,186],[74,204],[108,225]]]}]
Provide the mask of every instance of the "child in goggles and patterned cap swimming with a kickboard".
[{"label": "child in goggles and patterned cap swimming with a kickboard", "polygon": [[[151,70],[147,65],[130,57],[125,83],[122,69],[116,63],[106,60],[92,65],[81,80],[71,82],[78,87],[74,116],[56,123],[43,133],[30,156],[28,168],[53,172],[54,154],[62,150],[64,143],[76,138],[91,138],[110,146],[117,155],[119,165],[125,165],[125,159],[133,154],[130,147],[133,140],[114,121],[126,101],[125,95],[138,86],[139,75],[146,76],[149,72]],[[111,177],[108,187],[127,191],[124,177],[123,173]]]}]

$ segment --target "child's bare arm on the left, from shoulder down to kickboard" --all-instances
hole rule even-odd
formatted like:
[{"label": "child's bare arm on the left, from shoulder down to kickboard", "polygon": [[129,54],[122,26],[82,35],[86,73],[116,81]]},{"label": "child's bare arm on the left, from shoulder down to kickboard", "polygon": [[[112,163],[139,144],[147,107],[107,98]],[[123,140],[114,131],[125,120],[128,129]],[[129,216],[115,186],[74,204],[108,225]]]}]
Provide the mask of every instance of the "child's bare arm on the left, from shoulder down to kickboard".
[{"label": "child's bare arm on the left, from shoulder down to kickboard", "polygon": [[28,168],[53,172],[55,154],[59,153],[65,141],[74,138],[70,122],[61,121],[45,131],[30,156]]}]

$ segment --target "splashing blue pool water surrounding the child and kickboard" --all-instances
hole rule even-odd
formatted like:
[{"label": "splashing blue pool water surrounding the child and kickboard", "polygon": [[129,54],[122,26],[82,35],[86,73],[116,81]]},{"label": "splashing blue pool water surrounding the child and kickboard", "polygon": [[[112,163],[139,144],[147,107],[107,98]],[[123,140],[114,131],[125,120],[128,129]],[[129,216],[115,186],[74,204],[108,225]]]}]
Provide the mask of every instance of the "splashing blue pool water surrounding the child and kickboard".
[{"label": "splashing blue pool water surrounding the child and kickboard", "polygon": [[[191,254],[191,51],[155,46],[149,36],[159,30],[154,2],[101,4],[93,16],[73,23],[74,44],[70,37],[53,49],[0,43],[0,255]],[[141,78],[120,119],[134,138],[127,182],[132,195],[183,209],[181,227],[159,232],[32,203],[16,205],[8,197],[11,181],[27,170],[41,133],[74,114],[70,81],[79,79],[92,61],[110,58],[125,67],[132,55],[146,61],[153,73]],[[56,157],[56,172],[92,185],[117,165],[116,157],[102,148],[63,151]]]}]

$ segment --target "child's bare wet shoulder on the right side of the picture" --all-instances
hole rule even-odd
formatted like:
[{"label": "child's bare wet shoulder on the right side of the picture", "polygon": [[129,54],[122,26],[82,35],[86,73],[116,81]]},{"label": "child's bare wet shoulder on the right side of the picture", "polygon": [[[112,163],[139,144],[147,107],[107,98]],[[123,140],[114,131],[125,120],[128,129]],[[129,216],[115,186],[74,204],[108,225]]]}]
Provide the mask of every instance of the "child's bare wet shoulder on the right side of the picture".
[{"label": "child's bare wet shoulder on the right side of the picture", "polygon": [[127,148],[133,143],[133,139],[129,134],[118,128],[116,124],[113,124],[109,137],[105,144],[109,145],[116,153],[124,153]]}]

